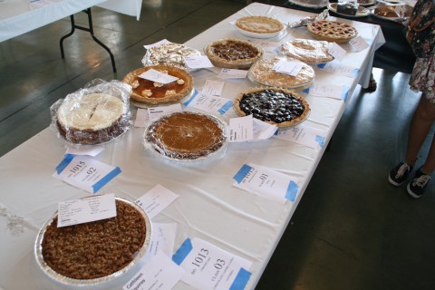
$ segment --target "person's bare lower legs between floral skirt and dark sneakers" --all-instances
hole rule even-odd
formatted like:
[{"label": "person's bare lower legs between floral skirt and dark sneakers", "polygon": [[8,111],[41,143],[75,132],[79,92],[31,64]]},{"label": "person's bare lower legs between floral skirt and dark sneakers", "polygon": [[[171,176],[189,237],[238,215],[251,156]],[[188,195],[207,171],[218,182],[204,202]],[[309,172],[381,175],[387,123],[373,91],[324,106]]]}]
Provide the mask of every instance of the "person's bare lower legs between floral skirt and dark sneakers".
[{"label": "person's bare lower legs between floral skirt and dark sneakers", "polygon": [[[411,128],[408,135],[405,162],[411,166],[413,166],[417,160],[421,145],[428,136],[433,121],[435,121],[435,105],[432,104],[423,94],[419,105],[412,116]],[[431,155],[428,157],[434,160],[432,162],[435,162],[435,148],[432,150],[433,147],[435,147],[435,145],[433,145],[432,142],[430,151],[433,152],[430,152]],[[430,168],[430,166],[432,165],[428,164],[428,169],[433,171],[433,167]]]}]

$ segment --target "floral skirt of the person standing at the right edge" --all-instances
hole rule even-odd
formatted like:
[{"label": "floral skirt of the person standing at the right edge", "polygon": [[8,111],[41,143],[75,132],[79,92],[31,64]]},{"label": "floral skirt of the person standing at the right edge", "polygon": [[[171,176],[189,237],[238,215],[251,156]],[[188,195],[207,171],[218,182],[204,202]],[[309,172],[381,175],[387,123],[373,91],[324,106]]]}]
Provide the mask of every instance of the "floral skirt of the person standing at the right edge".
[{"label": "floral skirt of the person standing at the right edge", "polygon": [[424,96],[435,105],[435,56],[417,58],[410,79],[411,90],[423,92]]}]

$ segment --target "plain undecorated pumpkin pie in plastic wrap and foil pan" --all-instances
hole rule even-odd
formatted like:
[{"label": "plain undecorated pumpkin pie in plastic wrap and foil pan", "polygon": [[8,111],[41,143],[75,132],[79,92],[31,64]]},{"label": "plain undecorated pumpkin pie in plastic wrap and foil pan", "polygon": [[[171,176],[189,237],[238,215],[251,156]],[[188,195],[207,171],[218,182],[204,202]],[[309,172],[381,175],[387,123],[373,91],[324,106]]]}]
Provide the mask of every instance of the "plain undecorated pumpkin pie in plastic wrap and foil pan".
[{"label": "plain undecorated pumpkin pie in plastic wrap and foil pan", "polygon": [[144,144],[169,160],[204,160],[224,149],[226,128],[223,121],[211,115],[175,112],[150,124]]}]

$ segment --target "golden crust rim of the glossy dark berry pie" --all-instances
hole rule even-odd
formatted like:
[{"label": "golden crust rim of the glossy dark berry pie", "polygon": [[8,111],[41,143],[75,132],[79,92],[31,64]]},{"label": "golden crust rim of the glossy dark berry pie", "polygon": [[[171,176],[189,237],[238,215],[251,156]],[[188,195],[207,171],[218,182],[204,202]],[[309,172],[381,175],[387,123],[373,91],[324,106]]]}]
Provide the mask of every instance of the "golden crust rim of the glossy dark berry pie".
[{"label": "golden crust rim of the glossy dark berry pie", "polygon": [[287,89],[277,88],[277,87],[267,87],[267,88],[255,87],[255,88],[249,88],[243,92],[239,92],[233,102],[233,109],[234,111],[236,111],[237,115],[240,117],[247,116],[247,113],[240,108],[240,102],[242,101],[242,98],[245,94],[252,93],[252,92],[264,92],[265,90],[292,94],[299,102],[301,102],[304,105],[304,112],[301,115],[295,117],[295,119],[291,121],[283,121],[283,122],[266,121],[267,123],[276,125],[276,127],[278,128],[286,128],[286,127],[295,126],[296,124],[300,123],[301,121],[304,121],[308,117],[308,114],[310,113],[310,105],[308,104],[308,102],[304,100],[303,97],[301,97],[301,95],[299,95],[298,93],[292,90],[287,90]]}]

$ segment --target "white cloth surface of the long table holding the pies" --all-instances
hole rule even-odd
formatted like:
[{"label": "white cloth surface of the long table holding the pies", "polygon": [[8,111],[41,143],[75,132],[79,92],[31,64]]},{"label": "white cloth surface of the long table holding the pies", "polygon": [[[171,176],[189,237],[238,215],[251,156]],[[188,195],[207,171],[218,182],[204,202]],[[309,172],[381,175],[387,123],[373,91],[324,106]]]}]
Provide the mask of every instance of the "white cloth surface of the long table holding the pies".
[{"label": "white cloth surface of the long table holding the pies", "polygon": [[[231,22],[248,14],[263,14],[294,22],[304,12],[252,4],[191,39],[189,46],[202,50],[204,45],[222,37],[247,39]],[[357,77],[345,77],[315,69],[315,82],[343,84],[350,88],[351,99],[357,83],[370,73],[373,53],[382,43],[379,26],[343,20],[352,24],[370,44],[361,52],[347,53],[343,63],[360,69]],[[288,30],[282,42],[295,37],[311,38],[305,28]],[[147,43],[144,43],[147,44]],[[273,52],[266,52],[266,57]],[[206,80],[218,80],[217,73],[200,70],[193,73],[195,87],[200,90]],[[90,80],[91,81],[91,80]],[[232,99],[237,92],[252,86],[248,80],[227,80],[222,96]],[[343,115],[346,102],[333,98],[307,95],[312,108],[305,123],[325,132],[326,143]],[[135,109],[132,109],[133,111]],[[228,111],[223,119],[235,117]],[[321,160],[322,149],[312,149],[285,140],[272,138],[261,142],[230,143],[225,157],[204,164],[182,166],[157,158],[142,145],[142,128],[132,128],[118,140],[105,145],[98,160],[119,166],[121,175],[99,193],[115,193],[135,200],[157,184],[179,194],[152,222],[177,223],[174,251],[188,237],[199,237],[237,256],[253,262],[247,289],[256,286],[269,258],[304,196],[310,179]],[[0,159],[0,287],[10,289],[59,288],[39,270],[34,259],[34,239],[44,221],[61,200],[82,198],[88,194],[52,177],[63,159],[65,144],[57,133],[47,128]],[[295,202],[284,205],[260,198],[232,186],[233,176],[240,167],[252,162],[296,176],[299,190]],[[104,285],[104,289],[121,289],[129,275]],[[179,282],[176,289],[191,289]]]}]

